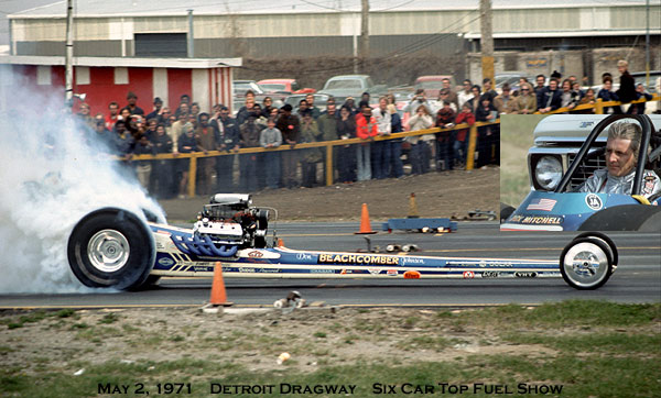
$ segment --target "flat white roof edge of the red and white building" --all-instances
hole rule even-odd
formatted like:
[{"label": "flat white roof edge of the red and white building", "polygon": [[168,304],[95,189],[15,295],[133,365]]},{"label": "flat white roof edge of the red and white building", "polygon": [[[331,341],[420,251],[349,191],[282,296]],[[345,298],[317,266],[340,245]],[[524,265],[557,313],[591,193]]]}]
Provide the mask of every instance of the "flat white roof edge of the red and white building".
[{"label": "flat white roof edge of the red and white building", "polygon": [[[191,68],[239,67],[241,58],[137,58],[137,57],[74,57],[74,66]],[[11,55],[0,56],[0,64],[64,65],[64,56]]]}]

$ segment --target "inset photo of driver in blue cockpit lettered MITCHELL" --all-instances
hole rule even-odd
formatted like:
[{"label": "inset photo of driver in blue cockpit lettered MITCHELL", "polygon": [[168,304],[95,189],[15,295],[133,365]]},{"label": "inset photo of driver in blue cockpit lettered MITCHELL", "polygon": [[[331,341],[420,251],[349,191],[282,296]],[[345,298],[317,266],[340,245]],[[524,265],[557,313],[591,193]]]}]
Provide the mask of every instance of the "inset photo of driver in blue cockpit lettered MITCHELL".
[{"label": "inset photo of driver in blue cockpit lettered MITCHELL", "polygon": [[500,231],[661,231],[661,115],[502,115]]}]

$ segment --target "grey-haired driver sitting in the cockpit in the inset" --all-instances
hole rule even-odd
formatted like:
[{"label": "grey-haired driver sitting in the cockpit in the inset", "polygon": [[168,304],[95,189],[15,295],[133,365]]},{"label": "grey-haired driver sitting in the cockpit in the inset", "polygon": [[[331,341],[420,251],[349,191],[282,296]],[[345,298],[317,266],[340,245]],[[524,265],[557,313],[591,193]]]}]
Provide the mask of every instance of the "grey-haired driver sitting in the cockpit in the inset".
[{"label": "grey-haired driver sitting in the cockpit in the inset", "polygon": [[[579,188],[581,192],[631,195],[642,130],[630,122],[615,123],[606,142],[607,169],[596,170]],[[644,170],[641,195],[650,198],[661,191],[661,180],[654,172]]]}]

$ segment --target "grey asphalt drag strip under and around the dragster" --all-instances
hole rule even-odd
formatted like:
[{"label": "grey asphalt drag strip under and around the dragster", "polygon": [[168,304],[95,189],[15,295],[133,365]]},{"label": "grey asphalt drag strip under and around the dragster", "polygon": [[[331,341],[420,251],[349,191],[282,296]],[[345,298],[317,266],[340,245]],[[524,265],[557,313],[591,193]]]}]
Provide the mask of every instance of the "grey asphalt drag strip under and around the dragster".
[{"label": "grey asphalt drag strip under and around the dragster", "polygon": [[[185,225],[182,225],[185,226]],[[271,225],[273,226],[273,225]],[[377,223],[372,222],[377,229]],[[300,250],[365,250],[356,222],[280,223],[278,236]],[[372,248],[414,243],[421,255],[557,259],[577,233],[499,232],[496,222],[460,222],[457,233],[395,232],[371,235]],[[297,290],[308,303],[326,306],[489,306],[539,305],[565,299],[661,302],[661,235],[608,233],[619,266],[597,290],[575,290],[562,278],[544,279],[257,279],[226,278],[228,300],[241,307],[270,307]],[[162,278],[143,291],[85,295],[2,295],[0,308],[196,307],[209,297],[210,278]]]}]

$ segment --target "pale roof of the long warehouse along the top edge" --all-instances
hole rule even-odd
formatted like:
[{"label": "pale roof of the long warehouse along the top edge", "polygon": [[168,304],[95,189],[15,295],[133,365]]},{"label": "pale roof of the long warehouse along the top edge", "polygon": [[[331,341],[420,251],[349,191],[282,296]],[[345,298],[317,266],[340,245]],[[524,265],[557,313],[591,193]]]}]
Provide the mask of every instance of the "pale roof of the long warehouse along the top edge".
[{"label": "pale roof of the long warehouse along the top edge", "polygon": [[[499,9],[576,8],[576,7],[631,7],[644,5],[646,0],[492,0],[491,7]],[[370,12],[386,11],[448,11],[476,10],[479,0],[371,0]],[[77,0],[74,12],[83,18],[156,16],[194,14],[263,14],[310,12],[359,12],[360,0]],[[10,14],[10,19],[64,18],[66,1]]]}]

